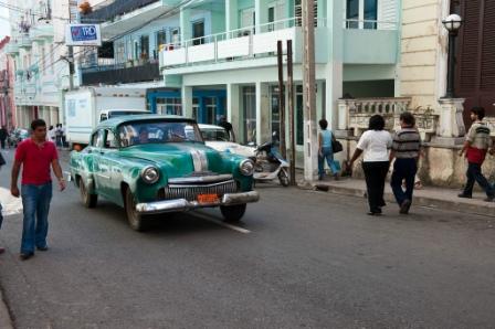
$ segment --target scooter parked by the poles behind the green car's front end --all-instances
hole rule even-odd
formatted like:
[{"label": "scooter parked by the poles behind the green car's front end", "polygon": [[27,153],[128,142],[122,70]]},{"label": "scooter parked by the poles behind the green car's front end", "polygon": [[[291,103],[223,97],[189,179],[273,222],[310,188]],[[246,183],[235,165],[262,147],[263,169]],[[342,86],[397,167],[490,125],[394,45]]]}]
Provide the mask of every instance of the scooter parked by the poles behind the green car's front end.
[{"label": "scooter parked by the poles behind the green car's front end", "polygon": [[266,182],[278,178],[281,185],[288,187],[288,162],[282,157],[274,141],[267,141],[255,149],[253,178]]}]

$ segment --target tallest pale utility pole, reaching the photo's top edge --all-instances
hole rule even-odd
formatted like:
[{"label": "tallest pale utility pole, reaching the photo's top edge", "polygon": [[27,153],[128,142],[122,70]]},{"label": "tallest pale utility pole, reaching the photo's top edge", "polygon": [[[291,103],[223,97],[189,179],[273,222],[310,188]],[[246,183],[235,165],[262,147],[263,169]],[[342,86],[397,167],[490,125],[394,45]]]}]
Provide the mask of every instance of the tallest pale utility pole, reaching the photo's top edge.
[{"label": "tallest pale utility pole, reaching the photo's top edge", "polygon": [[316,137],[315,83],[315,12],[314,0],[303,4],[303,103],[304,103],[304,179],[314,181],[317,174],[318,146]]}]

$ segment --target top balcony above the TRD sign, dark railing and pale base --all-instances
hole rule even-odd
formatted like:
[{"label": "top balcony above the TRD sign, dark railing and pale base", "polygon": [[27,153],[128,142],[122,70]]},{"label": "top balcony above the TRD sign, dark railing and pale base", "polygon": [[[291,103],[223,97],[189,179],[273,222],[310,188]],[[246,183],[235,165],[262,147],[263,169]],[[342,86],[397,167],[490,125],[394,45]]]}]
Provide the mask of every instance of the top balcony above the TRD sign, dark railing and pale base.
[{"label": "top balcony above the TRD sign, dark railing and pale base", "polygon": [[108,40],[169,12],[178,2],[179,0],[116,0],[82,15],[81,22],[102,23],[102,36]]}]

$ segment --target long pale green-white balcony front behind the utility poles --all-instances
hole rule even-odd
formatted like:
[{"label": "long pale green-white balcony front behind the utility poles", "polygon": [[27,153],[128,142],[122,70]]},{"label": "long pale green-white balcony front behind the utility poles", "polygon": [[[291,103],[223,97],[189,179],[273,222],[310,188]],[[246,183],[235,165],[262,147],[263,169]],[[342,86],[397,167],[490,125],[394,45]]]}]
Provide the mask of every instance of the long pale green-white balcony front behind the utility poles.
[{"label": "long pale green-white balcony front behind the utility poles", "polygon": [[[238,61],[251,60],[250,65],[275,65],[276,44],[293,41],[293,61],[303,60],[303,34],[297,19],[276,21],[261,26],[229,31],[224,33],[185,41],[181,44],[167,44],[160,50],[160,68],[168,74],[192,72],[201,64],[228,63],[224,66],[239,68]],[[346,24],[349,22],[346,22]],[[315,29],[315,62],[329,61],[328,44],[330,38],[326,20],[317,20]],[[366,28],[366,29],[365,29]],[[375,29],[376,28],[376,29]],[[397,23],[366,21],[361,26],[343,29],[345,64],[396,64],[399,45]],[[243,63],[245,65],[245,62]],[[188,67],[188,68],[186,68]],[[189,68],[190,67],[190,68]]]}]

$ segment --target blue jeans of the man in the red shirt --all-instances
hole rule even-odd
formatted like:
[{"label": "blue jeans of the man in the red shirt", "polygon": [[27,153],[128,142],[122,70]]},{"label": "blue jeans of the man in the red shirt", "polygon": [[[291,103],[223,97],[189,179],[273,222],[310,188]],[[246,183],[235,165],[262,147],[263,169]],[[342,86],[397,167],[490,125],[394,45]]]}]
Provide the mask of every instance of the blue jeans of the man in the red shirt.
[{"label": "blue jeans of the man in the red shirt", "polygon": [[24,208],[21,253],[29,254],[34,252],[35,246],[46,247],[52,183],[23,184],[21,195]]}]

